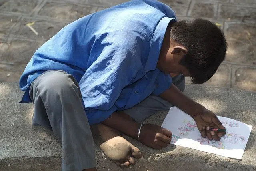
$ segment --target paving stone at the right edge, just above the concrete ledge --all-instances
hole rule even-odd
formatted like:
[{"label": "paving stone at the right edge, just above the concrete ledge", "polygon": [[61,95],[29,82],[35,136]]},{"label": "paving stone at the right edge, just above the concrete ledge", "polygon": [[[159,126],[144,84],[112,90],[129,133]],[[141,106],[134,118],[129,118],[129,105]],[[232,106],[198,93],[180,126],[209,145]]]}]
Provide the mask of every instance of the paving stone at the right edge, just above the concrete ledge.
[{"label": "paving stone at the right edge, just above the concrete ledge", "polygon": [[238,68],[234,88],[256,91],[256,68]]}]

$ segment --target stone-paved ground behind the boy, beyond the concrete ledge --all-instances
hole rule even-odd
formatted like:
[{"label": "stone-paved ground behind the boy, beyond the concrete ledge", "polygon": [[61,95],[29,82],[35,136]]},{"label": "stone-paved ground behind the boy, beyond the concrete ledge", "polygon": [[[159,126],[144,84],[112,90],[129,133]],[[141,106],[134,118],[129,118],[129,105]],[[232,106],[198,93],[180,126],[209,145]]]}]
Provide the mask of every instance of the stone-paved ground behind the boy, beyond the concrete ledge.
[{"label": "stone-paved ground behind the boy, beyond the concrete ledge", "polygon": [[[0,0],[0,82],[17,81],[34,51],[66,24],[125,1]],[[256,91],[256,0],[160,1],[174,9],[178,20],[205,18],[224,31],[226,59],[204,85]],[[35,22],[38,36],[28,22]]]}]

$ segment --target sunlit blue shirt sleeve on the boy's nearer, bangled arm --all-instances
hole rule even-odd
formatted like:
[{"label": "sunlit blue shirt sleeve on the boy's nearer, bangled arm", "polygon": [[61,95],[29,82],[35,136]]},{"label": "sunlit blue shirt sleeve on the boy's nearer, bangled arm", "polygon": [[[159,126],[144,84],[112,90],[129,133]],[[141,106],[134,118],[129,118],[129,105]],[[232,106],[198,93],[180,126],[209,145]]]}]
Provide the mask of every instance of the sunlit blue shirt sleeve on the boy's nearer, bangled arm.
[{"label": "sunlit blue shirt sleeve on the boy's nearer, bangled arm", "polygon": [[124,46],[110,44],[102,50],[97,46],[100,55],[79,82],[90,125],[104,121],[116,111],[114,103],[122,89],[137,79],[138,72],[143,72],[140,51],[129,44]]}]

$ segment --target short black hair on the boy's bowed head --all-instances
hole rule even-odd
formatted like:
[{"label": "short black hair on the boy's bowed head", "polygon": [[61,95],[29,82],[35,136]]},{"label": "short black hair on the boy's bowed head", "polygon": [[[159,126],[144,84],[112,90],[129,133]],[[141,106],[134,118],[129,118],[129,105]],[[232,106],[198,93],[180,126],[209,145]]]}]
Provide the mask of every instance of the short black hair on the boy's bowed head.
[{"label": "short black hair on the boy's bowed head", "polygon": [[226,56],[227,42],[223,32],[207,20],[173,23],[170,38],[188,50],[180,64],[188,69],[195,84],[209,80]]}]

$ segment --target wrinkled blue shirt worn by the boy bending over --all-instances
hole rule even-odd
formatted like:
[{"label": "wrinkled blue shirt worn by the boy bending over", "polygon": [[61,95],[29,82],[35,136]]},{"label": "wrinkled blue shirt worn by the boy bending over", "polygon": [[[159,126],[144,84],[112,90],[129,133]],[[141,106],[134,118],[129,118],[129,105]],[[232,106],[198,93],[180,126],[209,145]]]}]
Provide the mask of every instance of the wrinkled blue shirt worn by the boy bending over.
[{"label": "wrinkled blue shirt worn by the boy bending over", "polygon": [[133,0],[84,16],[62,28],[32,56],[20,77],[21,103],[30,84],[47,70],[72,74],[90,124],[128,109],[172,83],[156,68],[174,11],[158,1]]}]

